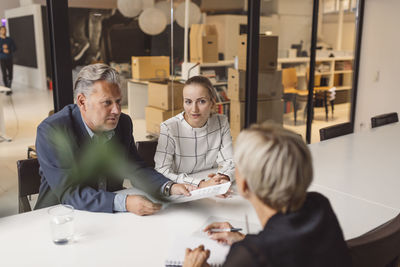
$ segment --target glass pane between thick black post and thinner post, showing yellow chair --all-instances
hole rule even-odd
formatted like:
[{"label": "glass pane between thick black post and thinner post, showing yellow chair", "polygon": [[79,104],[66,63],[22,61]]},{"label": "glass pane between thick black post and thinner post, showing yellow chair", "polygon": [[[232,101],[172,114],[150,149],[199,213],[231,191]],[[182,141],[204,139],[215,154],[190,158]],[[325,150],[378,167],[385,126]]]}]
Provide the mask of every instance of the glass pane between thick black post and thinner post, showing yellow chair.
[{"label": "glass pane between thick black post and thinner post, showing yellow chair", "polygon": [[[267,116],[303,138],[306,136],[312,14],[313,0],[261,1],[258,103],[263,109],[259,110],[258,118]],[[270,67],[265,69],[263,62],[268,62],[266,66]]]}]

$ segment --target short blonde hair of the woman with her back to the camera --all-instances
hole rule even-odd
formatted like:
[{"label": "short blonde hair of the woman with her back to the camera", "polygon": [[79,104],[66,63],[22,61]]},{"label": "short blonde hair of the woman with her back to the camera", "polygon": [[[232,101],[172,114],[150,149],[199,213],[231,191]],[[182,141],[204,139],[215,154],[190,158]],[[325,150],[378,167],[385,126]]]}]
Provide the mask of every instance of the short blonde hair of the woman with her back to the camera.
[{"label": "short blonde hair of the woman with her back to the camera", "polygon": [[242,131],[235,165],[250,191],[278,212],[303,206],[313,179],[311,153],[298,134],[264,123]]}]

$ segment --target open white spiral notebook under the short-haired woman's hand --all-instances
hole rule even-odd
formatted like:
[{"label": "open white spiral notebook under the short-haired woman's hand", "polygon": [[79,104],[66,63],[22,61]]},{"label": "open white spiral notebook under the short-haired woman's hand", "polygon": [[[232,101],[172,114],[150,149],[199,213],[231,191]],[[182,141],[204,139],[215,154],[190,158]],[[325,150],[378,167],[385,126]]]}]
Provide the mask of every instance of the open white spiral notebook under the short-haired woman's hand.
[{"label": "open white spiral notebook under the short-haired woman's hand", "polygon": [[165,266],[182,266],[186,248],[195,249],[200,245],[204,245],[205,249],[210,250],[210,257],[207,260],[208,264],[211,266],[222,266],[228,255],[230,246],[221,245],[209,238],[198,236],[177,237],[170,247]]}]

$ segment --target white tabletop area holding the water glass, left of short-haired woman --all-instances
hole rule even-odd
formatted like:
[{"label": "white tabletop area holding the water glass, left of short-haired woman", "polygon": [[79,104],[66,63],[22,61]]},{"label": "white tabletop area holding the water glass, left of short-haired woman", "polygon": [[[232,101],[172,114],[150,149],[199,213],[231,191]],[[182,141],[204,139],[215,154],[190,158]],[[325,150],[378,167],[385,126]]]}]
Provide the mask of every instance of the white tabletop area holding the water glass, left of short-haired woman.
[{"label": "white tabletop area holding the water glass, left of short-haired woman", "polygon": [[76,241],[51,241],[47,209],[0,219],[0,265],[164,266],[178,236],[191,236],[210,216],[244,221],[260,230],[250,204],[239,196],[170,205],[151,216],[75,211]]}]

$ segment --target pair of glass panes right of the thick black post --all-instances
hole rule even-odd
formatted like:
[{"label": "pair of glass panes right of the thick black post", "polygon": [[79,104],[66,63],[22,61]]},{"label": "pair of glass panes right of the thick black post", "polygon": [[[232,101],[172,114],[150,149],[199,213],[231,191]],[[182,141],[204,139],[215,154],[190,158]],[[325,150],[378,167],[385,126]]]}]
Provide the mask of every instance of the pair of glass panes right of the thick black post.
[{"label": "pair of glass panes right of the thick black post", "polygon": [[[314,1],[261,1],[260,6],[258,105],[265,104],[257,117],[282,123],[304,139],[309,119],[311,143],[319,142],[319,129],[350,122],[355,69],[357,1],[318,4],[314,73],[310,72]],[[263,78],[267,73],[274,78]]]}]

